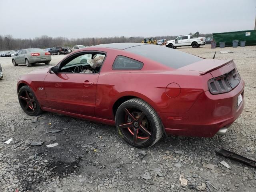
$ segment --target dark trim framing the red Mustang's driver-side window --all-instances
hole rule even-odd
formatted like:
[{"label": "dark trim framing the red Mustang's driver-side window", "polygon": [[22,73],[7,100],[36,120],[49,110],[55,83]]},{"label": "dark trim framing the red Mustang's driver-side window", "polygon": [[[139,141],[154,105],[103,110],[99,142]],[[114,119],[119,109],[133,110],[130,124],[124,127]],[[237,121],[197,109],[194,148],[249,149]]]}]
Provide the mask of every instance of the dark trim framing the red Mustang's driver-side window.
[{"label": "dark trim framing the red Mustang's driver-side window", "polygon": [[[65,62],[65,61],[68,60],[69,58],[74,58],[74,56],[76,56],[76,55],[83,55],[83,54],[90,54],[90,53],[97,53],[97,54],[102,53],[102,54],[105,54],[104,60],[102,61],[102,64],[101,64],[100,71],[99,71],[98,73],[68,73],[68,72],[60,72],[60,68],[61,68],[63,62]],[[79,57],[79,56],[77,56],[77,57]],[[65,58],[63,61],[61,61],[60,63],[57,64],[57,66],[58,66],[58,73],[60,73],[60,74],[90,74],[90,75],[91,75],[91,74],[92,74],[92,75],[94,75],[94,74],[100,74],[101,69],[102,69],[102,66],[103,66],[103,64],[104,64],[104,62],[105,62],[105,60],[106,60],[106,57],[107,57],[107,53],[104,52],[104,51],[89,51],[89,50],[88,50],[88,51],[76,52],[75,54],[72,54],[70,57]],[[70,60],[70,61],[71,61],[71,60]]]}]

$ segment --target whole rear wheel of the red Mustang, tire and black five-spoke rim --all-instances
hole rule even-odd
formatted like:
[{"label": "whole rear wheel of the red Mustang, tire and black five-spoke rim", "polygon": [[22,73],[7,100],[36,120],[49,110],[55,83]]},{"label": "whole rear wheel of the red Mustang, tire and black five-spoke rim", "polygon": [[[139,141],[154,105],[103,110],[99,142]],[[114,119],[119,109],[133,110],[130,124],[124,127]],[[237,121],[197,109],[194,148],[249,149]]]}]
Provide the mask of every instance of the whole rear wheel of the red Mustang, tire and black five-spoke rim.
[{"label": "whole rear wheel of the red Mustang, tire and black five-spoke rim", "polygon": [[153,146],[164,132],[155,110],[139,98],[122,103],[116,111],[115,120],[118,134],[136,148]]}]

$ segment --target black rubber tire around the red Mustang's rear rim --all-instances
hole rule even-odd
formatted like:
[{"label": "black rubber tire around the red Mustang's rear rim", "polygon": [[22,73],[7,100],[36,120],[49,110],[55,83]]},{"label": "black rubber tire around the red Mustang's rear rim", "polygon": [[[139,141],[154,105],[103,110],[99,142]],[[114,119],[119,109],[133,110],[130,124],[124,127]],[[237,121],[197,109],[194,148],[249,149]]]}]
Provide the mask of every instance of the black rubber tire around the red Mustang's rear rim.
[{"label": "black rubber tire around the red Mustang's rear rim", "polygon": [[[130,107],[130,106],[138,108],[138,109],[142,110],[143,112],[145,112],[146,117],[148,118],[148,120],[150,121],[150,124],[152,125],[152,130],[151,130],[152,136],[144,144],[134,144],[133,142],[130,142],[130,140],[128,140],[123,135],[123,133],[120,131],[120,128],[118,127],[118,124],[120,123],[119,119],[123,118],[123,117],[119,117],[122,114],[121,112],[124,110],[124,108]],[[147,109],[148,106],[150,107],[149,109]],[[153,112],[153,114],[150,113],[151,111]],[[156,116],[156,122],[154,120],[153,115]],[[125,142],[127,142],[128,144],[130,144],[131,146],[134,146],[136,148],[149,148],[149,147],[153,146],[162,137],[162,134],[163,134],[162,123],[161,123],[161,120],[158,117],[157,113],[148,103],[146,103],[144,100],[141,100],[139,98],[130,99],[130,100],[122,103],[116,111],[115,122],[116,122],[117,132],[121,136],[121,138]],[[160,136],[157,135],[157,131],[160,131]]]}]

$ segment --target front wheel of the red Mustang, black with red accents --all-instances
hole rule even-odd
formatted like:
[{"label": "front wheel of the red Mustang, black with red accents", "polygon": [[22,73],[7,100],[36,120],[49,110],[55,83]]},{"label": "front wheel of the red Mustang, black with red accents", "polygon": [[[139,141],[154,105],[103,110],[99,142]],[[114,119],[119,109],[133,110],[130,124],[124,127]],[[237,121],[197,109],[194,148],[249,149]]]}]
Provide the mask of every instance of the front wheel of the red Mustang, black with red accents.
[{"label": "front wheel of the red Mustang, black with red accents", "polygon": [[22,110],[30,115],[37,116],[43,111],[36,99],[36,96],[29,86],[23,86],[18,92],[18,99]]}]

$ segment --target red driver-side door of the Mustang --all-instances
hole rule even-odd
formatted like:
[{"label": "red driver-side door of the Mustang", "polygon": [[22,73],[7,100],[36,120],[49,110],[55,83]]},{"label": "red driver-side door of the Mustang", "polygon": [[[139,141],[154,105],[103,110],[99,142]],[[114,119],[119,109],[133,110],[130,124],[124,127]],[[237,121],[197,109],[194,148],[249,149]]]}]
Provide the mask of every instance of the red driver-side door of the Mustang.
[{"label": "red driver-side door of the Mustang", "polygon": [[47,74],[44,88],[48,108],[86,116],[95,115],[99,72],[83,73],[77,70],[79,65],[84,69],[90,68],[87,60],[83,59],[88,55],[92,57],[88,52],[74,54],[58,64],[59,72]]}]

